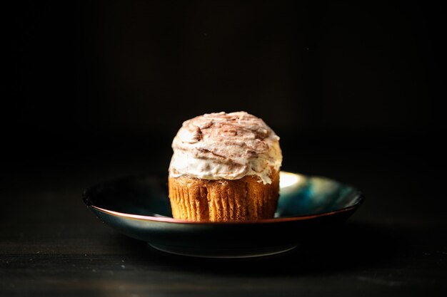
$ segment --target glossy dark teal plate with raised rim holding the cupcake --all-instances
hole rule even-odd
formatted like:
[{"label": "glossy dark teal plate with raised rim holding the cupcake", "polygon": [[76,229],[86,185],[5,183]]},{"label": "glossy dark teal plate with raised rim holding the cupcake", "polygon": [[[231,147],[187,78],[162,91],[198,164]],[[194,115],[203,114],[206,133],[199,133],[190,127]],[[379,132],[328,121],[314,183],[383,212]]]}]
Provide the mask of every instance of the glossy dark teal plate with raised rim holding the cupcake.
[{"label": "glossy dark teal plate with raised rim holding the cupcake", "polygon": [[126,177],[96,184],[84,202],[104,223],[161,251],[202,257],[249,257],[294,249],[344,222],[363,194],[325,177],[281,172],[275,218],[248,222],[173,219],[166,177]]}]

